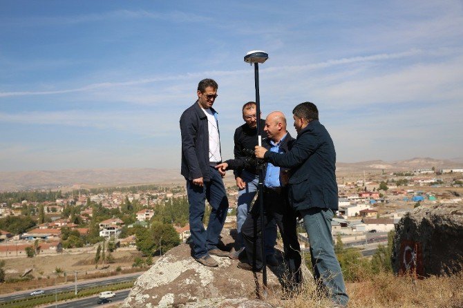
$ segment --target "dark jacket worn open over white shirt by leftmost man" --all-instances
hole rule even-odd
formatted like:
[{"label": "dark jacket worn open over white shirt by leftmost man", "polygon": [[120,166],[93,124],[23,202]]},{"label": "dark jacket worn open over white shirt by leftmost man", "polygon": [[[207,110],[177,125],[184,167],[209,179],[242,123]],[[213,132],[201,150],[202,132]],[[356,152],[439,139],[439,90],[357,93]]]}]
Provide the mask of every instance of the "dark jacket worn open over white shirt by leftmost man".
[{"label": "dark jacket worn open over white shirt by leftmost man", "polygon": [[[211,108],[214,115],[217,114]],[[217,126],[218,127],[218,126]],[[182,170],[185,180],[202,177],[209,182],[209,128],[207,116],[196,101],[180,117],[182,134]]]}]

